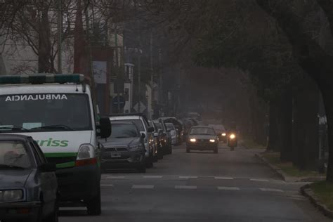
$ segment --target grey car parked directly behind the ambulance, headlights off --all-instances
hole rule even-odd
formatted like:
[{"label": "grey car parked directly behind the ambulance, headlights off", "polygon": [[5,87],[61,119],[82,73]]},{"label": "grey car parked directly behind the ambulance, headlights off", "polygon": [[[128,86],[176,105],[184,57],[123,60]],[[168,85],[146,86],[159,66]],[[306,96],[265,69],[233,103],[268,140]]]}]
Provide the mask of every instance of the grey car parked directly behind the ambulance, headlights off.
[{"label": "grey car parked directly behind the ambulance, headlights off", "polygon": [[105,140],[100,140],[101,167],[107,169],[133,168],[145,173],[145,133],[140,133],[133,122],[114,120],[112,134]]}]

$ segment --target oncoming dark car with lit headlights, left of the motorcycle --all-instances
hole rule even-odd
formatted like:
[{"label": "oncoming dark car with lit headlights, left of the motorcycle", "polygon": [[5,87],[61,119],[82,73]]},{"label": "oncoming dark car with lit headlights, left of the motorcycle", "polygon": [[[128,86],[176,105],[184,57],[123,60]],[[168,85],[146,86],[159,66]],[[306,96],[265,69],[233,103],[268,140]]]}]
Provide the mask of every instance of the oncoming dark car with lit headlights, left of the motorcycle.
[{"label": "oncoming dark car with lit headlights, left of the motorcycle", "polygon": [[210,126],[193,126],[186,141],[186,152],[191,150],[213,150],[218,153],[218,136]]}]

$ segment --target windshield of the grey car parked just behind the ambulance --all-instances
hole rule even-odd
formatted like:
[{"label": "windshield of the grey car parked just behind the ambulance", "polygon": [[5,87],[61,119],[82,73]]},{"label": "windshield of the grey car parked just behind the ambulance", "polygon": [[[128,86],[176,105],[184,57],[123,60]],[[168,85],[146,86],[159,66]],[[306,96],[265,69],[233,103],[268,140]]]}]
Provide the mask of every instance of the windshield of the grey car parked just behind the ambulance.
[{"label": "windshield of the grey car parked just behind the ambulance", "polygon": [[110,138],[131,138],[139,137],[138,129],[135,124],[111,122],[112,133]]}]

